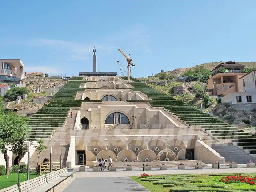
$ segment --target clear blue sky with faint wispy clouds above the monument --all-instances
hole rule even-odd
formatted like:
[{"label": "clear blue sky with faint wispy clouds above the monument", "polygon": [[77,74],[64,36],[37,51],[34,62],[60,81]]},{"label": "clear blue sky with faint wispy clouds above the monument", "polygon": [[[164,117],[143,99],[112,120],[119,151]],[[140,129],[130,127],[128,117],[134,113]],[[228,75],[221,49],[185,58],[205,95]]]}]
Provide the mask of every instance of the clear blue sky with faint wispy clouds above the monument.
[{"label": "clear blue sky with faint wispy clouds above the monument", "polygon": [[205,62],[256,61],[255,0],[0,1],[0,58],[26,72],[117,71],[134,77]]}]

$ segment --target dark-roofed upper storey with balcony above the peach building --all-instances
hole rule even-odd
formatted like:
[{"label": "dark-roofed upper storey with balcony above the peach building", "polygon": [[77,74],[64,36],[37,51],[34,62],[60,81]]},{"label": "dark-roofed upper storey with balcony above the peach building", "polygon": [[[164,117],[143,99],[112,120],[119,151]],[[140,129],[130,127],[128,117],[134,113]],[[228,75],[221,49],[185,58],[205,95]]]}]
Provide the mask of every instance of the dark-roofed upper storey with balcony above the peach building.
[{"label": "dark-roofed upper storey with balcony above the peach building", "polygon": [[221,68],[227,69],[229,73],[242,73],[245,69],[245,65],[239,64],[237,62],[233,61],[227,61],[225,63],[220,63],[218,66],[216,66],[212,71],[212,76],[215,76]]}]

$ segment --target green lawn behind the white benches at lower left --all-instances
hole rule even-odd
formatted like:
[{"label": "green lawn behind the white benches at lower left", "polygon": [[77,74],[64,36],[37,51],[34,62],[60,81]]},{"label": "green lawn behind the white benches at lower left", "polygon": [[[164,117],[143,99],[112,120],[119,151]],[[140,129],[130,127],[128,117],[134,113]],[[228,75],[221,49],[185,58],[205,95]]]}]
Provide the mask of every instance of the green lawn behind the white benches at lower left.
[{"label": "green lawn behind the white benches at lower left", "polygon": [[[39,175],[37,175],[38,177]],[[29,178],[33,179],[36,177],[36,173],[30,173]],[[7,176],[0,176],[0,189],[10,187],[17,184],[18,173],[12,173],[7,178]],[[20,182],[27,180],[27,173],[20,173]]]}]

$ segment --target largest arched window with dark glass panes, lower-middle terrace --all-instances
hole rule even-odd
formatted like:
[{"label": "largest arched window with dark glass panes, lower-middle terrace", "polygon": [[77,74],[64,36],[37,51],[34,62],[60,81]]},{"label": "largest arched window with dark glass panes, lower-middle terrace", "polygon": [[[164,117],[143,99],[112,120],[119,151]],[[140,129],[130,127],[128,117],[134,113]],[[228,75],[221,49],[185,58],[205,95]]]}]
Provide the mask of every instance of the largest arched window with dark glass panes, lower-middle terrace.
[{"label": "largest arched window with dark glass panes, lower-middle terrace", "polygon": [[123,112],[112,112],[104,119],[104,124],[130,124],[130,119]]}]

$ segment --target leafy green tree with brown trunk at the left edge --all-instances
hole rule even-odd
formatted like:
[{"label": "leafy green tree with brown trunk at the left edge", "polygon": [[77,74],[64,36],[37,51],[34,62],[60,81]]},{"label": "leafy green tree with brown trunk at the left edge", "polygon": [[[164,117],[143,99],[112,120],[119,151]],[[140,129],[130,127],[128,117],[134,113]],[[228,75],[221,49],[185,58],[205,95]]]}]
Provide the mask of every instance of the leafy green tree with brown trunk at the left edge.
[{"label": "leafy green tree with brown trunk at the left edge", "polygon": [[12,146],[11,150],[17,152],[16,147],[24,143],[28,135],[27,124],[28,117],[15,114],[13,111],[0,113],[0,151],[4,154],[6,175],[9,175],[10,169],[7,146]]}]

